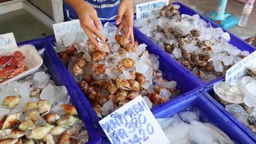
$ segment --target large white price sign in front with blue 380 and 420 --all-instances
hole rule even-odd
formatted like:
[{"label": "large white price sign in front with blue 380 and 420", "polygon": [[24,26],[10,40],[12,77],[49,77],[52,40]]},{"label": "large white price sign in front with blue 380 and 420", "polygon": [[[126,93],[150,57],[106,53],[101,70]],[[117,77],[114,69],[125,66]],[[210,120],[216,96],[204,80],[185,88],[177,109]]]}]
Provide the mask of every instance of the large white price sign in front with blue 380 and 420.
[{"label": "large white price sign in front with blue 380 and 420", "polygon": [[141,95],[100,121],[111,143],[170,143]]}]

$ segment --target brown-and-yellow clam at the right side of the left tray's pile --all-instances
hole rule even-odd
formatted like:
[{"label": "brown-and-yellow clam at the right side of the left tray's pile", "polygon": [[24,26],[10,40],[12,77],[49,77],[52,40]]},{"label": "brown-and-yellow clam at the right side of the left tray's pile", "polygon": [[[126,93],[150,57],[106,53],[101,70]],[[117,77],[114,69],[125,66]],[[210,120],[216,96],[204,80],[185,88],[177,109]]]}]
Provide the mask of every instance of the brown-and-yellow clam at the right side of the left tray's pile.
[{"label": "brown-and-yellow clam at the right side of the left tray's pile", "polygon": [[62,115],[60,119],[57,120],[56,124],[64,128],[69,128],[70,126],[74,125],[77,120],[77,118],[71,115]]}]

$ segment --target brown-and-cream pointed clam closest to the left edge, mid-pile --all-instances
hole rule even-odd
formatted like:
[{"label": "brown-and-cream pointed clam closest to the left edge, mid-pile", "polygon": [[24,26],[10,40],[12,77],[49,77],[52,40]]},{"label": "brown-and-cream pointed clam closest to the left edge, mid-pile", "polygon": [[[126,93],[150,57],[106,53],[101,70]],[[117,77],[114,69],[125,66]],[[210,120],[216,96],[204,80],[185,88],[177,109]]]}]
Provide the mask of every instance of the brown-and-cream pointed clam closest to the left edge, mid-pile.
[{"label": "brown-and-cream pointed clam closest to the left edge, mid-pile", "polygon": [[14,125],[16,125],[20,120],[20,115],[21,115],[20,112],[13,113],[13,114],[9,115],[5,119],[2,129],[9,129],[9,128],[13,127]]}]

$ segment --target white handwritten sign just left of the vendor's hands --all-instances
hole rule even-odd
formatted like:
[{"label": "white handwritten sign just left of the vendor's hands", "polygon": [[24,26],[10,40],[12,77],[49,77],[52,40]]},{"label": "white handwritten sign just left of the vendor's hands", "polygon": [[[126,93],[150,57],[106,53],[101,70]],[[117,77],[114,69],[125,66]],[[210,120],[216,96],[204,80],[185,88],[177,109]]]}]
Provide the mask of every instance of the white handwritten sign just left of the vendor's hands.
[{"label": "white handwritten sign just left of the vendor's hands", "polygon": [[[64,44],[64,41],[72,39],[73,41],[81,41],[85,36],[85,32],[80,26],[79,20],[72,20],[67,22],[56,23],[53,25],[56,43]],[[71,37],[72,35],[72,37]],[[68,40],[65,39],[65,37]],[[72,41],[72,42],[73,42]]]}]

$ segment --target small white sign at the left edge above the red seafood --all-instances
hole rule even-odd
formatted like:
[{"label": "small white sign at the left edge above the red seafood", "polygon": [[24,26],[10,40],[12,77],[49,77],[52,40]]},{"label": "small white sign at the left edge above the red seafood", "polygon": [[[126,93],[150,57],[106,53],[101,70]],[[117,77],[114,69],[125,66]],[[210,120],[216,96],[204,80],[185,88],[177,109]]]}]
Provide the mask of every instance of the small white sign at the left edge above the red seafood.
[{"label": "small white sign at the left edge above the red seafood", "polygon": [[0,49],[16,49],[18,48],[13,33],[0,35]]}]

